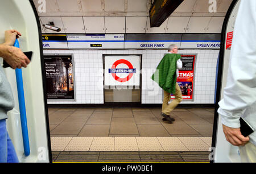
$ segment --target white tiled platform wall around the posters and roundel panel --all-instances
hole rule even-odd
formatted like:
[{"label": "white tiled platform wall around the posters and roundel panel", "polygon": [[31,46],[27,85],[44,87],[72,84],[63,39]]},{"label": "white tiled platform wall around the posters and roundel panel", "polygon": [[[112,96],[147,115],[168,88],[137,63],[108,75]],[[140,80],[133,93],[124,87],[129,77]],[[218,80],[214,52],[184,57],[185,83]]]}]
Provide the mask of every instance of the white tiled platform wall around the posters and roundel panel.
[{"label": "white tiled platform wall around the posters and roundel panel", "polygon": [[[97,104],[104,103],[102,54],[142,55],[142,103],[162,103],[162,89],[152,80],[151,74],[166,50],[44,50],[44,53],[73,53],[75,61],[76,101],[48,102],[48,104]],[[183,49],[180,54],[195,54],[194,101],[181,103],[214,103],[216,65],[219,50]],[[152,72],[152,73],[143,73]],[[152,86],[155,86],[152,91]]]}]

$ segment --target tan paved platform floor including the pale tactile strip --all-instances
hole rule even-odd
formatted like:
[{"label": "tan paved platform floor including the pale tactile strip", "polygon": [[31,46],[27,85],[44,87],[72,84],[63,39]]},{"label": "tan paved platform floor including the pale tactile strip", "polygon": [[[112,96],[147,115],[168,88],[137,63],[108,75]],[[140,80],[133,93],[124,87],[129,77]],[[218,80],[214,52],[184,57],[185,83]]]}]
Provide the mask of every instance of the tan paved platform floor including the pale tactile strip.
[{"label": "tan paved platform floor including the pale tactile strip", "polygon": [[122,152],[128,161],[208,161],[213,108],[177,108],[172,124],[162,120],[160,107],[49,107],[48,113],[56,161],[104,161],[106,153],[113,161]]}]

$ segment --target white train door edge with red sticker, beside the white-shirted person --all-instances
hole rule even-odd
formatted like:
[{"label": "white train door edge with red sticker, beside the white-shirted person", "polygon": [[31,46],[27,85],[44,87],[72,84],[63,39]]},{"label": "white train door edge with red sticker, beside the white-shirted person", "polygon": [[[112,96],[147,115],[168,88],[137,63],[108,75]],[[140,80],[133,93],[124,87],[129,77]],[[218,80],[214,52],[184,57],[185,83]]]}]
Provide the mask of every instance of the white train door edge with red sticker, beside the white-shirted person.
[{"label": "white train door edge with red sticker, beside the white-shirted person", "polygon": [[226,86],[230,48],[232,46],[234,23],[241,0],[234,0],[226,14],[221,34],[221,49],[218,65],[217,90],[216,90],[216,106],[214,113],[212,153],[210,160],[216,163],[221,162],[240,162],[238,147],[233,146],[226,141],[222,130],[220,115],[217,113],[217,103],[223,98],[224,88]]}]

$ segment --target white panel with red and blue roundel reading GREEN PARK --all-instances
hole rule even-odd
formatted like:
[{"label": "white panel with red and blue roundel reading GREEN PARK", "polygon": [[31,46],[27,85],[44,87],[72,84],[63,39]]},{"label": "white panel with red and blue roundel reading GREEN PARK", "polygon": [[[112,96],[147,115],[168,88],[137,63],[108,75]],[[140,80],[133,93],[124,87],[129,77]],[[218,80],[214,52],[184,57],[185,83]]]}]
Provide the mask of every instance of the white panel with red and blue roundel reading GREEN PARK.
[{"label": "white panel with red and blue roundel reading GREEN PARK", "polygon": [[105,86],[139,86],[140,55],[104,55]]}]

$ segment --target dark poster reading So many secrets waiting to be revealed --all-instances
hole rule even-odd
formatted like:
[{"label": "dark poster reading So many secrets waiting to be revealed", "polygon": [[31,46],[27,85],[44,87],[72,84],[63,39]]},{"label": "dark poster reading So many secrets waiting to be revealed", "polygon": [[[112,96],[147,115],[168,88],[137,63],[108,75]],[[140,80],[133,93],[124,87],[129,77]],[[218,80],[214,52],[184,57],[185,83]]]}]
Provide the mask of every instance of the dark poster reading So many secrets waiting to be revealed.
[{"label": "dark poster reading So many secrets waiting to be revealed", "polygon": [[47,100],[75,101],[73,55],[44,55]]}]

